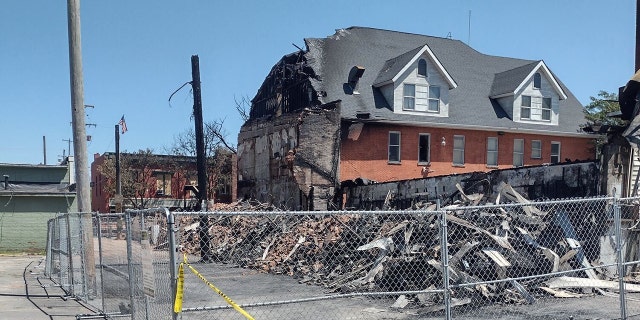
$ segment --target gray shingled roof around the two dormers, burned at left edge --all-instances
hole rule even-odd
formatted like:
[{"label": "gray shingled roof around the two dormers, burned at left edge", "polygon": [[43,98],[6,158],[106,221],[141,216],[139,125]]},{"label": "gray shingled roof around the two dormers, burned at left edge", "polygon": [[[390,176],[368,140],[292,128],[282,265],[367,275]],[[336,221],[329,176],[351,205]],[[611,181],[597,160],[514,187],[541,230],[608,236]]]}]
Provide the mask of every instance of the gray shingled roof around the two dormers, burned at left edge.
[{"label": "gray shingled roof around the two dormers, burned at left edge", "polygon": [[[567,99],[560,101],[558,126],[513,122],[489,98],[492,93],[517,87],[523,78],[517,83],[511,83],[511,80],[517,80],[527,68],[531,71],[530,68],[538,63],[535,60],[482,54],[459,40],[364,27],[339,29],[333,36],[305,41],[308,48],[306,58],[319,75],[318,80],[312,80],[314,88],[327,93],[323,102],[340,100],[342,118],[346,120],[357,119],[358,113],[369,113],[369,121],[420,126],[459,125],[552,134],[579,133],[580,124],[586,122],[582,105],[559,80]],[[393,113],[379,90],[373,87],[374,83],[393,78],[397,74],[394,70],[402,68],[402,62],[410,59],[408,56],[425,44],[458,84],[457,88],[449,91],[449,117],[416,117]],[[359,83],[360,94],[349,95],[345,93],[344,83],[347,82],[349,71],[356,65],[365,68]]]}]

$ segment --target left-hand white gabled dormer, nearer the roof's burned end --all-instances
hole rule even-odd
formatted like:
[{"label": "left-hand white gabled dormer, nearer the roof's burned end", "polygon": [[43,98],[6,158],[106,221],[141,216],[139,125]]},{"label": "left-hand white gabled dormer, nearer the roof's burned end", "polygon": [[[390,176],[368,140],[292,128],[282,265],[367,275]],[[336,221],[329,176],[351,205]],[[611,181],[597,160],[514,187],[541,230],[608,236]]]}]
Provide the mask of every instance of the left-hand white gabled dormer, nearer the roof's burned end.
[{"label": "left-hand white gabled dormer, nearer the roof's burned end", "polygon": [[449,90],[458,85],[424,45],[387,60],[373,86],[395,113],[448,117]]}]

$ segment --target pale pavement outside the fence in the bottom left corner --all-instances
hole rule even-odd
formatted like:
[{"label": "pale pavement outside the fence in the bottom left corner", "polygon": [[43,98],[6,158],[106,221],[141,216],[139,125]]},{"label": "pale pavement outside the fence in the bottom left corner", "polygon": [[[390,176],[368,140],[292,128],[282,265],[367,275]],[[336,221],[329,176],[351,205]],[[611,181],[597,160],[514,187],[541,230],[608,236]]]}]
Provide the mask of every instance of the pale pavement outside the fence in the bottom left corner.
[{"label": "pale pavement outside the fence in the bottom left corner", "polygon": [[68,298],[44,275],[45,260],[35,255],[0,255],[0,319],[82,319],[95,310]]}]

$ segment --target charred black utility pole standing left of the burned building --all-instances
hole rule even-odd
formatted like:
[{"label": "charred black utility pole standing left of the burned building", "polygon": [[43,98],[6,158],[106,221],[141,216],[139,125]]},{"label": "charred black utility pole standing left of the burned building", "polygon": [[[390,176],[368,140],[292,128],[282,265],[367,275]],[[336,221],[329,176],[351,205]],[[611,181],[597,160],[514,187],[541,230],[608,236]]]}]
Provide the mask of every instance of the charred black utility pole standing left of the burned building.
[{"label": "charred black utility pole standing left of the burned building", "polygon": [[[204,150],[204,129],[202,121],[202,97],[200,88],[200,60],[197,55],[191,56],[191,87],[193,88],[193,118],[196,134],[196,166],[198,169],[198,209],[207,211],[207,166]],[[200,258],[203,262],[211,261],[211,241],[209,236],[209,217],[200,216],[198,225],[200,236]]]}]

